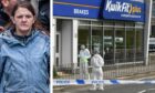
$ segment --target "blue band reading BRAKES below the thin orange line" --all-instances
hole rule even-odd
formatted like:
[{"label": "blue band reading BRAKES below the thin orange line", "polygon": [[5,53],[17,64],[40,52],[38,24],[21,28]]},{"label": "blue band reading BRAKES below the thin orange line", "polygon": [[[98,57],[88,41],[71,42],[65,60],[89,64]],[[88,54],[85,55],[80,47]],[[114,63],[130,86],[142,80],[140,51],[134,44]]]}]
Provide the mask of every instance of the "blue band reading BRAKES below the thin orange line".
[{"label": "blue band reading BRAKES below the thin orange line", "polygon": [[54,4],[53,8],[54,16],[73,17],[73,18],[97,19],[100,11],[96,8],[76,7],[70,4],[61,4],[61,6]]}]

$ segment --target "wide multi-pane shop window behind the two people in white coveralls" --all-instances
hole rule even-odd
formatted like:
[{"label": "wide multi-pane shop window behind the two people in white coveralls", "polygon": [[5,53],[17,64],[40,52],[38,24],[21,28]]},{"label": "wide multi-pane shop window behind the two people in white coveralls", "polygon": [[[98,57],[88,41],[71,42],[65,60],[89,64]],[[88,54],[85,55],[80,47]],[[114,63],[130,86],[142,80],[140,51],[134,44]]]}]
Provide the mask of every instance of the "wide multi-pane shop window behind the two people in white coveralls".
[{"label": "wide multi-pane shop window behind the two people in white coveralls", "polygon": [[142,22],[80,21],[79,51],[81,44],[92,54],[97,49],[105,64],[143,61],[143,28]]}]

